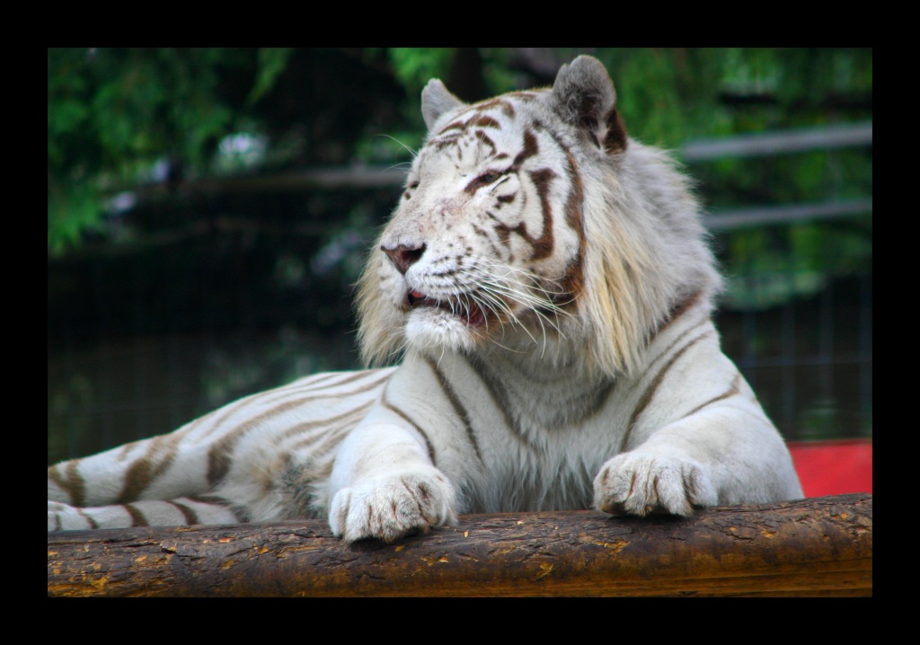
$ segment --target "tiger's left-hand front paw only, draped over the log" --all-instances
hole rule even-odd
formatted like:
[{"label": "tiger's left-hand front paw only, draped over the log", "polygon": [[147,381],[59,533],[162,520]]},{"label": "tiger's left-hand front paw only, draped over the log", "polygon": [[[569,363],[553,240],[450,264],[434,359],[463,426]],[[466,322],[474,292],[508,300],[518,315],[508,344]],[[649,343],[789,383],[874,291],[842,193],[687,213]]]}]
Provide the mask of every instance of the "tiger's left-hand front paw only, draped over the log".
[{"label": "tiger's left-hand front paw only, draped over the log", "polygon": [[436,468],[364,479],[332,498],[329,526],[346,542],[392,542],[431,527],[454,525],[454,487]]}]

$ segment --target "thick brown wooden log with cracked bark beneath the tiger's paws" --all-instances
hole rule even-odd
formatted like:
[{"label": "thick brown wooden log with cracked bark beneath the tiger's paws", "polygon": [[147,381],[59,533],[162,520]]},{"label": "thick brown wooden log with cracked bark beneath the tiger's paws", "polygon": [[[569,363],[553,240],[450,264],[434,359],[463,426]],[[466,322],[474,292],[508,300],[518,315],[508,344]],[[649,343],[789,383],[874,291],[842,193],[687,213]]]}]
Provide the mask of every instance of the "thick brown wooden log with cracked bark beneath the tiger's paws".
[{"label": "thick brown wooden log with cracked bark beneath the tiger's paws", "polygon": [[49,596],[872,594],[872,496],[715,507],[691,518],[461,516],[392,544],[321,521],[48,535]]}]

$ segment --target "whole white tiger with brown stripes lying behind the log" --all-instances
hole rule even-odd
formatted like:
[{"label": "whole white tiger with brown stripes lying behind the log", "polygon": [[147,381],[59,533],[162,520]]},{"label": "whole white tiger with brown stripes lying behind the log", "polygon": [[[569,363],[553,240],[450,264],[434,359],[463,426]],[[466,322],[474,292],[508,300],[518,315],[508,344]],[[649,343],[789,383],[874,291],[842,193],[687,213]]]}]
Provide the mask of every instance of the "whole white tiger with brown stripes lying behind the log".
[{"label": "whole white tiger with brown stripes lying behind the log", "polygon": [[466,105],[427,142],[359,289],[363,357],[48,469],[48,530],[327,517],[351,542],[457,513],[689,515],[802,497],[719,349],[684,177],[627,137],[604,66]]}]

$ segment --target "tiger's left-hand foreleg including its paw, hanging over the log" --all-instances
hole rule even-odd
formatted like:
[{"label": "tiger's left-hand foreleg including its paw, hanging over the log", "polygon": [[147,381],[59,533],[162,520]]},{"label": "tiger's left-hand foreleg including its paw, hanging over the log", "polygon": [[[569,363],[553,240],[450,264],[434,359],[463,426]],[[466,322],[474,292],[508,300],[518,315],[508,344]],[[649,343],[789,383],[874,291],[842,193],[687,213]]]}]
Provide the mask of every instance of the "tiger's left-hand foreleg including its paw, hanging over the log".
[{"label": "tiger's left-hand foreleg including its paw, hanging over the log", "polygon": [[351,432],[339,448],[329,493],[329,525],[346,542],[391,542],[457,520],[454,486],[418,439],[395,425]]}]

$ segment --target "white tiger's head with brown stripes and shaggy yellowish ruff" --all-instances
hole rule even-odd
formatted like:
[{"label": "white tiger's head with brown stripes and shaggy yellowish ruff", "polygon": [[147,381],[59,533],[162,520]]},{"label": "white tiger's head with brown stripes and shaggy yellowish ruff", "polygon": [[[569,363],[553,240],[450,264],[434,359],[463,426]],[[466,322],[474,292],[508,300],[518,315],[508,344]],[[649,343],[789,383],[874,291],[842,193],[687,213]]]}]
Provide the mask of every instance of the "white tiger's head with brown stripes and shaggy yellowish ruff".
[{"label": "white tiger's head with brown stripes and shaggy yellowish ruff", "polygon": [[696,202],[615,101],[588,56],[551,89],[472,105],[429,82],[427,140],[359,282],[368,363],[549,346],[623,374],[682,297],[711,297]]}]

